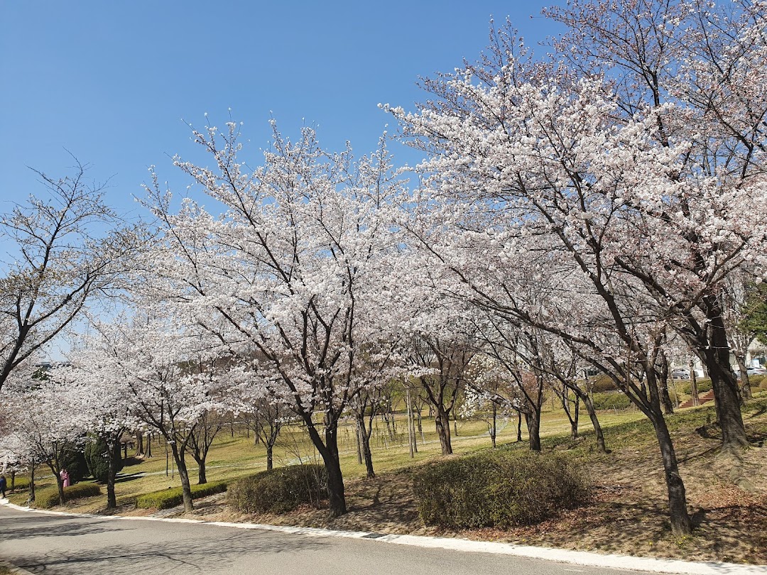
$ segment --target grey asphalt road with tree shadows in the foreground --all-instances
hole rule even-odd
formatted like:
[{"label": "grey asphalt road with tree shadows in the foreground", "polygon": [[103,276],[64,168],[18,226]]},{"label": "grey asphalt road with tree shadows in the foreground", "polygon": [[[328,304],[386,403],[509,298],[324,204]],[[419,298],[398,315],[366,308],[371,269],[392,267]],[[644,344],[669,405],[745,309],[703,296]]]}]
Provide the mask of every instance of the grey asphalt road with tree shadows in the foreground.
[{"label": "grey asphalt road with tree shadows in the foreground", "polygon": [[636,571],[210,524],[62,517],[0,508],[0,558],[32,573],[629,575]]}]

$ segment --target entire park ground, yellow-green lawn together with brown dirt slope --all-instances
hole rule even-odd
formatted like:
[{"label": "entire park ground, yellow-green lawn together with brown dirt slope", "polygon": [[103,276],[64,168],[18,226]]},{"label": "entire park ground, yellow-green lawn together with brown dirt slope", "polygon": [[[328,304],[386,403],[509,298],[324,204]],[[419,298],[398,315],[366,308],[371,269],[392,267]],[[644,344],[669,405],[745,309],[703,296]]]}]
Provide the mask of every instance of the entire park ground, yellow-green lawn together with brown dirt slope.
[{"label": "entire park ground, yellow-green lawn together with brown dirt slope", "polygon": [[[365,478],[364,465],[357,463],[354,428],[341,429],[341,466],[349,508],[343,517],[331,520],[327,510],[313,508],[280,516],[244,516],[228,508],[222,496],[197,502],[193,517],[457,536],[688,560],[767,563],[767,455],[762,448],[767,438],[767,396],[762,392],[762,396],[744,408],[743,416],[754,447],[743,454],[737,465],[718,455],[717,430],[709,425],[715,419],[711,404],[683,410],[668,419],[695,524],[690,537],[677,538],[670,533],[657,441],[650,423],[631,409],[601,412],[607,447],[611,449],[610,453],[602,454],[594,449],[587,417],[581,418],[580,437],[571,440],[564,413],[548,406],[542,422],[543,449],[568,452],[580,460],[594,485],[594,500],[584,508],[566,511],[561,517],[532,527],[508,531],[443,531],[423,526],[413,498],[411,471],[413,466],[440,456],[439,441],[430,419],[423,421],[424,436],[423,440],[419,437],[419,452],[414,459],[407,450],[404,420],[397,421],[398,434],[393,441],[383,423],[377,423],[371,442],[377,472],[374,479]],[[453,437],[456,454],[489,449],[485,422],[459,421],[457,425],[458,435]],[[524,442],[515,443],[515,439],[516,419],[499,422],[499,449],[526,449]],[[154,443],[152,451],[153,458],[129,460],[130,465],[118,476],[120,513],[144,513],[144,510],[133,510],[137,494],[180,485],[177,474],[166,476],[163,445]],[[300,428],[285,429],[275,452],[275,465],[317,459]],[[189,460],[195,482],[196,468],[193,460]],[[209,481],[230,480],[264,468],[264,449],[253,445],[252,435],[247,437],[236,429],[232,434],[225,429],[209,454],[207,475]],[[752,491],[737,488],[733,484],[733,473],[748,479],[753,485]],[[39,490],[55,488],[51,477],[38,478],[37,484]],[[25,498],[25,494],[11,495],[11,500],[19,504],[23,504]],[[104,512],[105,506],[106,495],[103,495],[71,501],[66,509],[99,513]]]}]

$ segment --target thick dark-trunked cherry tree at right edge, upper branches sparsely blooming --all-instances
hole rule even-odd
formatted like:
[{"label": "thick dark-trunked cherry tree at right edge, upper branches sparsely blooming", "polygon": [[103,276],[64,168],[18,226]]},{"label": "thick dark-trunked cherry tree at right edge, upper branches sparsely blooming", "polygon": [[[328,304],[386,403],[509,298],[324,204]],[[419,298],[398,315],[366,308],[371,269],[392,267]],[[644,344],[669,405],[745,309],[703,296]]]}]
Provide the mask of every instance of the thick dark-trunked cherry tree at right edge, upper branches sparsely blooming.
[{"label": "thick dark-trunked cherry tree at right edge, upper branches sparsely blooming", "polygon": [[723,290],[732,270],[744,261],[763,268],[765,257],[767,5],[574,0],[548,15],[568,26],[555,42],[567,66],[603,75],[621,120],[657,110],[657,146],[686,143],[670,176],[687,190],[669,193],[650,211],[658,232],[665,222],[673,233],[650,257],[615,262],[664,307],[675,302],[674,327],[709,369],[723,450],[736,455],[748,441]]}]

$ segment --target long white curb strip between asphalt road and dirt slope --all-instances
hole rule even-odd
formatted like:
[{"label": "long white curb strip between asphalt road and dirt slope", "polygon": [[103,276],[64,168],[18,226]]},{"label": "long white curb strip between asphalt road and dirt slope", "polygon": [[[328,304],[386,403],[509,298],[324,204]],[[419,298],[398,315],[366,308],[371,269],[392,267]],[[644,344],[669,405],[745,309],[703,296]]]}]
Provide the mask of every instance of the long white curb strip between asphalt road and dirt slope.
[{"label": "long white curb strip between asphalt road and dirt slope", "polygon": [[[278,531],[285,534],[304,535],[310,537],[344,537],[350,539],[367,539],[384,544],[408,545],[410,547],[425,547],[432,549],[446,549],[470,553],[489,553],[501,555],[513,555],[515,557],[528,557],[530,559],[542,559],[569,563],[581,567],[608,567],[613,569],[630,569],[647,571],[649,573],[680,573],[680,575],[767,575],[767,565],[740,565],[738,563],[719,563],[710,561],[696,563],[676,559],[658,559],[656,557],[633,557],[630,555],[599,554],[590,551],[574,551],[555,549],[553,547],[532,547],[529,545],[515,545],[498,543],[495,541],[475,541],[469,539],[456,539],[453,537],[426,537],[423,535],[395,535],[381,534],[369,531],[340,531],[334,529],[320,529],[318,527],[289,527],[283,525],[268,525],[257,523],[230,523],[227,521],[203,521],[201,519],[185,519],[173,517],[137,517],[124,515],[95,515],[85,513],[71,513],[67,511],[45,511],[21,507],[0,500],[0,503],[17,511],[28,511],[47,515],[60,515],[65,517],[85,517],[100,520],[123,520],[123,521],[166,521],[167,523],[188,523],[201,525],[215,525],[217,527],[232,527],[235,529],[256,529],[262,531]],[[18,569],[18,567],[17,567]],[[21,570],[20,573],[28,573]]]}]

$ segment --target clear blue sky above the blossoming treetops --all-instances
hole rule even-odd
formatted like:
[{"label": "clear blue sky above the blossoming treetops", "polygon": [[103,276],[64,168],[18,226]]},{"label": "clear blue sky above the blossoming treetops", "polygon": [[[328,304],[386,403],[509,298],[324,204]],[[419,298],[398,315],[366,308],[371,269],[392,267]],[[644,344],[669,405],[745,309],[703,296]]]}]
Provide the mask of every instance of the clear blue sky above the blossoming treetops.
[{"label": "clear blue sky above the blossoming treetops", "polygon": [[479,55],[491,15],[545,41],[557,28],[540,11],[556,3],[0,0],[0,209],[42,192],[27,166],[67,173],[68,149],[111,177],[110,204],[136,210],[147,166],[174,182],[170,156],[194,156],[182,118],[222,125],[229,108],[251,164],[270,116],[367,153],[391,122],[379,102],[413,108],[419,76]]}]

